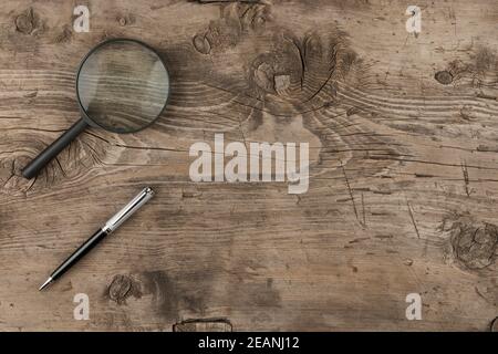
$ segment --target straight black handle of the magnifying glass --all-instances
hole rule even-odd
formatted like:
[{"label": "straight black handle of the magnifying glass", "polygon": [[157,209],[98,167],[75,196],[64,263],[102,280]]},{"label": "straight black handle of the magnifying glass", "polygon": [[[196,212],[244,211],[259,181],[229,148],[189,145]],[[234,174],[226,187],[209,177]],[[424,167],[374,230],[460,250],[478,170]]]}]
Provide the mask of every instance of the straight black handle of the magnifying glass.
[{"label": "straight black handle of the magnifying glass", "polygon": [[40,153],[31,163],[22,169],[22,176],[28,179],[38,175],[52,158],[59,155],[76,136],[79,136],[89,124],[81,118],[73,124],[64,134],[62,134],[55,142],[50,144],[42,153]]}]

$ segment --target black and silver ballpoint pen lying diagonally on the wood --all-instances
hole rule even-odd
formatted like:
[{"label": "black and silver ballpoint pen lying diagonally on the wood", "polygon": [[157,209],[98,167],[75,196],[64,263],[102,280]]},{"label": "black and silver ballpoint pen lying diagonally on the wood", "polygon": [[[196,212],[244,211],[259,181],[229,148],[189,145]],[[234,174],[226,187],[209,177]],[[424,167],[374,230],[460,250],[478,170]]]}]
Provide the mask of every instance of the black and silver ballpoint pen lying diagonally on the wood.
[{"label": "black and silver ballpoint pen lying diagonally on the wood", "polygon": [[64,262],[50,274],[49,279],[40,287],[43,290],[51,282],[64,274],[74,263],[94,248],[102,239],[117,229],[127,218],[146,204],[154,196],[152,188],[144,188],[123,209],[116,212],[105,225],[95,231],[82,246],[80,246]]}]

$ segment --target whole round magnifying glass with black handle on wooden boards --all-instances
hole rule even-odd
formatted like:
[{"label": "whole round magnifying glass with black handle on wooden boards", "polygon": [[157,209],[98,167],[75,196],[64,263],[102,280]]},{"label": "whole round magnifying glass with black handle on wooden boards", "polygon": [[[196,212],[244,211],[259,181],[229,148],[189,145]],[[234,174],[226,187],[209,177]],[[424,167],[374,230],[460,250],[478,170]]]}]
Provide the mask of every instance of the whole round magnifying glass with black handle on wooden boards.
[{"label": "whole round magnifying glass with black handle on wooden boards", "polygon": [[80,64],[76,96],[81,119],[22,170],[33,178],[89,126],[135,133],[156,121],[169,96],[169,75],[159,54],[132,39],[112,39],[93,48]]}]

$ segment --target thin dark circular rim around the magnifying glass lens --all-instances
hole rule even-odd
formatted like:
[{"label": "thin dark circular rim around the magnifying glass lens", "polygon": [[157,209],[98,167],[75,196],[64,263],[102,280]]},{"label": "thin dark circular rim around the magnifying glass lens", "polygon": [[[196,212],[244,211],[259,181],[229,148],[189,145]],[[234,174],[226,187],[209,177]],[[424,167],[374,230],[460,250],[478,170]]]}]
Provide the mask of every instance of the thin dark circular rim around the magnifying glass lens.
[{"label": "thin dark circular rim around the magnifying glass lens", "polygon": [[[83,69],[83,65],[85,64],[86,60],[92,56],[92,54],[94,54],[97,50],[100,50],[102,46],[115,43],[115,42],[132,42],[132,43],[136,43],[138,45],[144,46],[145,49],[149,50],[151,52],[153,52],[154,54],[156,54],[156,56],[159,59],[160,64],[163,65],[165,72],[166,72],[166,77],[168,80],[168,92],[166,95],[166,100],[164,102],[164,106],[163,108],[160,108],[159,113],[156,115],[156,117],[154,119],[152,119],[149,123],[141,126],[137,129],[129,129],[129,131],[118,131],[118,129],[113,129],[108,126],[104,126],[102,124],[100,124],[98,122],[95,122],[94,119],[92,119],[91,116],[89,116],[89,114],[86,113],[86,110],[83,107],[82,103],[81,103],[81,97],[80,97],[80,90],[77,88],[77,82],[80,81],[80,74],[81,71]],[[170,88],[170,80],[169,80],[169,72],[168,72],[168,66],[166,65],[166,63],[164,62],[163,58],[160,56],[159,52],[157,52],[154,48],[152,48],[151,45],[148,45],[147,43],[144,43],[139,40],[136,39],[132,39],[132,38],[112,38],[108,40],[105,40],[98,44],[96,44],[95,46],[93,46],[90,52],[86,53],[86,55],[82,59],[80,66],[77,67],[77,73],[76,73],[76,81],[74,83],[75,88],[76,88],[76,101],[77,101],[77,106],[80,107],[80,112],[82,115],[82,118],[90,125],[93,127],[98,127],[102,128],[104,131],[107,132],[112,132],[112,133],[117,133],[117,134],[131,134],[131,133],[136,133],[139,131],[145,129],[146,127],[151,126],[154,122],[157,121],[158,117],[160,117],[160,115],[164,113],[164,111],[166,110],[166,106],[168,105],[169,102],[169,88]]]}]

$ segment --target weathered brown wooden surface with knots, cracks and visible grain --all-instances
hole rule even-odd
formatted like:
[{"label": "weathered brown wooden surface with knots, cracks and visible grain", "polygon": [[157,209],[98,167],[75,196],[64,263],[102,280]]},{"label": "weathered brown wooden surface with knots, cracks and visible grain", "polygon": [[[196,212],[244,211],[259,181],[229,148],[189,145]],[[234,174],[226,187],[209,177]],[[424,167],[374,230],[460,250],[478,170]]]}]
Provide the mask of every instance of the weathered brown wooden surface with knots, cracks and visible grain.
[{"label": "weathered brown wooden surface with knots, cracks and visible grain", "polygon": [[[3,0],[0,330],[489,331],[498,2],[416,4],[417,37],[406,1]],[[80,60],[113,37],[164,55],[164,115],[133,135],[91,129],[25,180],[79,118]],[[309,191],[191,183],[188,148],[215,133],[309,142]],[[157,196],[38,292],[145,185]],[[405,317],[408,293],[422,321]]]}]

